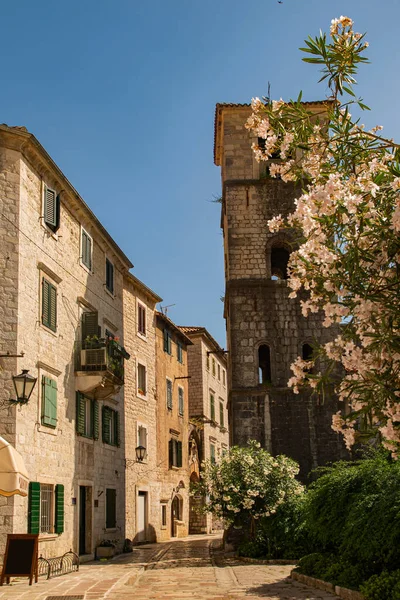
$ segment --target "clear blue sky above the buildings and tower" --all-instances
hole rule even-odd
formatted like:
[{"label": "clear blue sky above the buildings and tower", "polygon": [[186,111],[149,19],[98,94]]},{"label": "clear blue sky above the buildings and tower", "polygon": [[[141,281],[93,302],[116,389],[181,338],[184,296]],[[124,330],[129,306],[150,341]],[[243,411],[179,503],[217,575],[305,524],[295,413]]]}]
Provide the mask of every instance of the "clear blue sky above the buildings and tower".
[{"label": "clear blue sky above the buildings and tower", "polygon": [[400,138],[398,0],[19,0],[1,8],[0,122],[25,125],[135,265],[225,346],[217,102],[323,99],[298,48],[341,14],[368,32],[367,124]]}]

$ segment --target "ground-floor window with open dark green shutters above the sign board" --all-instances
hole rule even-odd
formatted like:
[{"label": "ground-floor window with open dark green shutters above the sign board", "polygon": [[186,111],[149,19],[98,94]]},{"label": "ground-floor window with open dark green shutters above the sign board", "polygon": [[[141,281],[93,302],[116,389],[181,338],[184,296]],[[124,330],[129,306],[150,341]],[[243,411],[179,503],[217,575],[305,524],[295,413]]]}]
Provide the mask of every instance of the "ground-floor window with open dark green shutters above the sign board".
[{"label": "ground-floor window with open dark green shutters above the sign board", "polygon": [[64,486],[31,481],[28,498],[29,533],[63,533]]}]

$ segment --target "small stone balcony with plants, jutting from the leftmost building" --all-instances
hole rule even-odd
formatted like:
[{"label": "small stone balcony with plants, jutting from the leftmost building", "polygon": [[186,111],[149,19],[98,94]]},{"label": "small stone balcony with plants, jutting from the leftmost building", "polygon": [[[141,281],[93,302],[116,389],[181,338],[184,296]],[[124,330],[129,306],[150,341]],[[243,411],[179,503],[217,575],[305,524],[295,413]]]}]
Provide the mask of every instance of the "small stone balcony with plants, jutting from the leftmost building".
[{"label": "small stone balcony with plants, jutting from the leftmost building", "polygon": [[76,342],[76,390],[99,400],[116,395],[124,384],[124,363],[129,358],[115,340],[93,337]]}]

